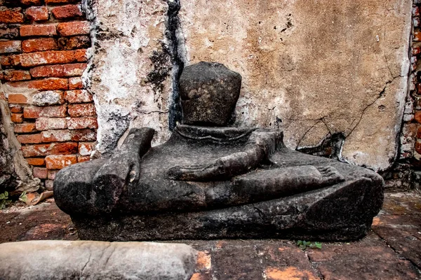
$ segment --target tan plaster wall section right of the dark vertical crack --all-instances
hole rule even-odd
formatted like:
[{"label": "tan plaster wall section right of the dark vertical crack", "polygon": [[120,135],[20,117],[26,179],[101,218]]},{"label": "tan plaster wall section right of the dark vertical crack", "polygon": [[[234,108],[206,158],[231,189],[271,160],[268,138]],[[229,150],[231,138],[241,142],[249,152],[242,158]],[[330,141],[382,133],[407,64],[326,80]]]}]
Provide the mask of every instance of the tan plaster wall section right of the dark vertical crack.
[{"label": "tan plaster wall section right of the dark vertical crack", "polygon": [[187,64],[243,77],[236,124],[283,125],[288,148],[343,134],[340,158],[386,169],[408,83],[412,1],[181,3]]}]

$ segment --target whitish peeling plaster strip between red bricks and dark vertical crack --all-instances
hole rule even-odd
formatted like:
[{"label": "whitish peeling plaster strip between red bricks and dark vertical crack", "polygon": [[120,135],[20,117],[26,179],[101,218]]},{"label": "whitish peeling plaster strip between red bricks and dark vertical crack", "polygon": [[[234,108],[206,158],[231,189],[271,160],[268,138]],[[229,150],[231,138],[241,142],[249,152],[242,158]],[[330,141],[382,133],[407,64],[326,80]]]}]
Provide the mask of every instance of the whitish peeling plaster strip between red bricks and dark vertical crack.
[{"label": "whitish peeling plaster strip between red bricks and dark vertical crack", "polygon": [[171,55],[166,1],[94,1],[95,55],[84,79],[95,96],[98,152],[110,153],[128,127],[152,127],[154,143],[168,139]]}]

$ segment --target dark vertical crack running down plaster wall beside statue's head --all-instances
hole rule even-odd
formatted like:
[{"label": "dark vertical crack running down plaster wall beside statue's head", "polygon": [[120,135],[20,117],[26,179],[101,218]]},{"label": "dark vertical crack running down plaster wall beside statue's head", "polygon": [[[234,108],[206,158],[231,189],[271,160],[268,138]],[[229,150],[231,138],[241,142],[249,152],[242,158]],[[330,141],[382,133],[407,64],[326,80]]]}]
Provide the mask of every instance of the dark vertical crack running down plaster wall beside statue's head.
[{"label": "dark vertical crack running down plaster wall beside statue's head", "polygon": [[171,52],[171,62],[173,64],[173,87],[169,99],[168,127],[172,131],[177,123],[182,119],[180,104],[179,80],[185,64],[184,57],[184,37],[180,28],[180,0],[166,0],[168,3],[168,19],[166,22],[166,38]]}]

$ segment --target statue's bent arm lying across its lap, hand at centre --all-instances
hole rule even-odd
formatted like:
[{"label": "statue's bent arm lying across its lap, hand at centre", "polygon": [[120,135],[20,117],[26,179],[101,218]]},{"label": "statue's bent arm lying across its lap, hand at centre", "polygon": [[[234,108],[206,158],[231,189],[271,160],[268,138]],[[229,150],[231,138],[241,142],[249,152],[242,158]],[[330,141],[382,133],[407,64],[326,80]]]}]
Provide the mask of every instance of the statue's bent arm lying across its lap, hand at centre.
[{"label": "statue's bent arm lying across its lap, hand at centre", "polygon": [[250,134],[244,150],[218,158],[206,165],[176,166],[167,176],[180,181],[218,181],[245,174],[257,168],[281,144],[281,132],[255,131]]}]

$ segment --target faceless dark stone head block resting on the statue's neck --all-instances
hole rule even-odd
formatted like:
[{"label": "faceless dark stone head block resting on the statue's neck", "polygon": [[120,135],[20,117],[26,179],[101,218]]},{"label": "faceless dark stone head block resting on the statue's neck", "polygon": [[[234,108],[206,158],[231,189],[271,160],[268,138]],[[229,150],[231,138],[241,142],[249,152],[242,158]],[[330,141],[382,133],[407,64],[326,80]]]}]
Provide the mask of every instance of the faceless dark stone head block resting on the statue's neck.
[{"label": "faceless dark stone head block resting on the statue's neck", "polygon": [[199,62],[180,76],[183,123],[226,126],[239,99],[241,76],[219,63]]}]

